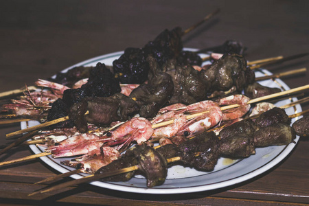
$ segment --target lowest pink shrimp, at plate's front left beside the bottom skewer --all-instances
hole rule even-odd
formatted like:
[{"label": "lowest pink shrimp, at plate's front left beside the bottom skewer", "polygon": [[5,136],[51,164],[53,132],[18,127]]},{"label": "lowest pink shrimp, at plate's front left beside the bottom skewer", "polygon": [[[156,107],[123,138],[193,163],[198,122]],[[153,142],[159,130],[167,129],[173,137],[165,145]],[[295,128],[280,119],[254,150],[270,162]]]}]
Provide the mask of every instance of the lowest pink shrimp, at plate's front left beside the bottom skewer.
[{"label": "lowest pink shrimp, at plate's front left beside the bottom skewer", "polygon": [[96,150],[72,159],[71,161],[62,161],[64,165],[68,165],[73,168],[79,168],[80,172],[93,174],[100,168],[108,165],[112,161],[119,158],[119,151],[111,147],[103,146]]}]

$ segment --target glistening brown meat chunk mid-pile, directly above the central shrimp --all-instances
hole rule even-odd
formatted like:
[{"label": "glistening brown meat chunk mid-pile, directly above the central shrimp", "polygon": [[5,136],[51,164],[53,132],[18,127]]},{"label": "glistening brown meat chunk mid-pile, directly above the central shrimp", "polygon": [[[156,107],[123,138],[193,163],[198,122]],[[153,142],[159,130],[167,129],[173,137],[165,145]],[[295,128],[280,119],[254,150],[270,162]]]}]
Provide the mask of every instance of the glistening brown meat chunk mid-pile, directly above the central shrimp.
[{"label": "glistening brown meat chunk mid-pile, directly above the central shrimp", "polygon": [[176,66],[173,81],[174,95],[170,100],[171,104],[193,104],[207,98],[210,84],[192,66]]}]

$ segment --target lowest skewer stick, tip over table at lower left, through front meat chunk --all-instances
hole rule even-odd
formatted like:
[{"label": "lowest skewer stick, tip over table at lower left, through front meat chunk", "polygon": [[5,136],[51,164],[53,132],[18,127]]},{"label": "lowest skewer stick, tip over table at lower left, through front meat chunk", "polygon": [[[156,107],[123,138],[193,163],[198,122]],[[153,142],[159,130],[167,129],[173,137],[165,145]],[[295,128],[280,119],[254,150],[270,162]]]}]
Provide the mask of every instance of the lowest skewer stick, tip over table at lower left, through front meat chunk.
[{"label": "lowest skewer stick, tip over table at lower left, through front meat chunk", "polygon": [[[173,158],[166,159],[166,160],[168,161],[168,163],[171,163],[171,162],[174,162],[174,161],[181,160],[181,157],[173,157]],[[55,185],[53,187],[49,187],[45,190],[38,190],[36,192],[33,192],[32,194],[29,194],[28,196],[32,196],[34,194],[41,194],[41,193],[45,193],[45,192],[51,192],[51,191],[54,191],[54,190],[62,189],[64,187],[69,187],[71,185],[78,185],[80,183],[87,183],[89,181],[95,181],[97,179],[103,179],[103,178],[108,177],[108,176],[115,176],[117,174],[132,172],[132,171],[135,171],[135,170],[139,170],[138,165],[134,165],[134,166],[129,167],[129,168],[122,168],[122,169],[117,170],[117,171],[104,172],[102,174],[91,174],[89,176],[85,176],[85,177],[82,177],[80,179],[75,179],[73,181],[69,181],[69,182],[59,184],[59,185]]]}]

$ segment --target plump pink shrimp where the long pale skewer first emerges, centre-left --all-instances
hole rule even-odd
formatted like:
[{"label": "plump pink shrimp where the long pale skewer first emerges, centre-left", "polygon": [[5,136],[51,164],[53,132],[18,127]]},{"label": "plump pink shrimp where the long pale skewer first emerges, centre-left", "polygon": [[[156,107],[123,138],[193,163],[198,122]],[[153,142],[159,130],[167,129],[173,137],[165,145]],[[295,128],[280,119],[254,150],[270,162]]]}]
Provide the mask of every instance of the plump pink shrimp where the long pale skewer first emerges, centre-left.
[{"label": "plump pink shrimp where the long pale skewer first emerges, centre-left", "polygon": [[133,140],[136,141],[137,144],[147,141],[150,139],[153,132],[152,125],[147,119],[143,117],[134,117],[115,130],[108,132],[106,137],[110,139],[110,141],[106,145],[121,144],[116,146],[116,148],[118,150],[124,150]]}]

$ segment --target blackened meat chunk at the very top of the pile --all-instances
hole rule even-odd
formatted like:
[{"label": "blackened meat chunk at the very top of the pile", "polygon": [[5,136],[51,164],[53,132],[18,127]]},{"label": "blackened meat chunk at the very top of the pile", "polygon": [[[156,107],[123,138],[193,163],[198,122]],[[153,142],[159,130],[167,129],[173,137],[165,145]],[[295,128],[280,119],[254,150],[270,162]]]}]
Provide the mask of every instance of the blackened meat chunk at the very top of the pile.
[{"label": "blackened meat chunk at the very top of the pile", "polygon": [[175,27],[171,31],[164,30],[154,41],[148,42],[143,51],[146,56],[153,56],[162,66],[169,59],[179,56],[183,49],[181,35],[181,27]]}]

